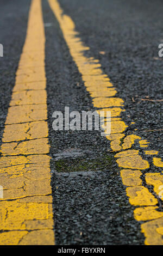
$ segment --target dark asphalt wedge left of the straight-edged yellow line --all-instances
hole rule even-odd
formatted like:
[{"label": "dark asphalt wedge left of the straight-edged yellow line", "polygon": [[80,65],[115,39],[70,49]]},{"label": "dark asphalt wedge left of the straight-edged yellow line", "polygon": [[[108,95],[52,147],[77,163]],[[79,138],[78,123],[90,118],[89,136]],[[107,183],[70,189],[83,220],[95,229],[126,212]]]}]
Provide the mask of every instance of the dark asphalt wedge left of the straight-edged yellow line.
[{"label": "dark asphalt wedge left of the straight-edged yellow line", "polygon": [[0,3],[0,146],[11,100],[15,75],[26,37],[30,0],[1,0]]}]

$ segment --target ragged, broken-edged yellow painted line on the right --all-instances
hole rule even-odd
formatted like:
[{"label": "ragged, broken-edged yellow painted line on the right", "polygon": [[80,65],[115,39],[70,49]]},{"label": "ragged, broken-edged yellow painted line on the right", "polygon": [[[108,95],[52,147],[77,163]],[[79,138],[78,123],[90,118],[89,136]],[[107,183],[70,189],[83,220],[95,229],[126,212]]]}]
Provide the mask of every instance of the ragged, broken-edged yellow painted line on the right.
[{"label": "ragged, broken-edged yellow painted line on the right", "polygon": [[[141,180],[141,170],[150,170],[150,164],[142,158],[139,150],[131,149],[131,147],[134,147],[137,141],[141,150],[145,148],[145,154],[149,157],[158,153],[153,150],[148,151],[149,142],[134,133],[128,136],[124,134],[127,125],[121,120],[120,116],[124,111],[123,100],[115,96],[117,91],[109,77],[102,71],[99,60],[84,56],[83,51],[89,50],[89,47],[84,46],[79,33],[75,31],[75,25],[71,17],[63,13],[57,0],[48,0],[48,2],[59,21],[73,60],[82,74],[85,87],[92,96],[93,105],[98,108],[97,112],[111,111],[111,135],[106,136],[106,138],[111,142],[111,149],[117,151],[115,157],[118,166],[123,168],[121,177],[123,184],[127,186],[129,202],[136,206],[135,219],[146,221],[146,223],[141,224],[142,232],[146,237],[145,244],[163,245],[163,216],[156,206],[158,199],[142,185]],[[117,119],[115,120],[113,117]],[[156,167],[163,167],[163,162],[158,157],[153,157],[153,164]],[[162,175],[149,172],[145,178],[147,184],[152,185],[154,192],[159,196],[160,186],[163,185]]]}]

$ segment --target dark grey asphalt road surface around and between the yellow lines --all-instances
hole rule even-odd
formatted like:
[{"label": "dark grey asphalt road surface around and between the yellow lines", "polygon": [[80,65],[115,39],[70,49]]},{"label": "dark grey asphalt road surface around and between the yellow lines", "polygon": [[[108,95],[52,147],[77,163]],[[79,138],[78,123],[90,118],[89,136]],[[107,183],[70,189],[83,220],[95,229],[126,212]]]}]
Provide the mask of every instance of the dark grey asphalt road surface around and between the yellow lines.
[{"label": "dark grey asphalt road surface around and between the yellow lines", "polygon": [[[135,122],[137,135],[148,139],[150,149],[162,152],[163,1],[59,0],[76,24],[87,52],[100,60],[102,69],[125,101],[122,119]],[[1,0],[0,127],[4,122],[24,43],[30,0]],[[93,110],[81,75],[73,62],[59,24],[42,0],[46,33],[46,76],[52,190],[57,245],[143,245],[140,223],[128,202],[120,170],[110,153],[110,142],[99,131],[52,129],[54,111]],[[104,51],[105,54],[99,52]],[[147,157],[147,156],[146,156]],[[156,170],[152,167],[150,171]]]}]

